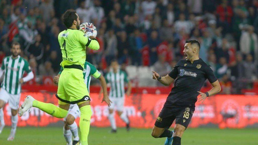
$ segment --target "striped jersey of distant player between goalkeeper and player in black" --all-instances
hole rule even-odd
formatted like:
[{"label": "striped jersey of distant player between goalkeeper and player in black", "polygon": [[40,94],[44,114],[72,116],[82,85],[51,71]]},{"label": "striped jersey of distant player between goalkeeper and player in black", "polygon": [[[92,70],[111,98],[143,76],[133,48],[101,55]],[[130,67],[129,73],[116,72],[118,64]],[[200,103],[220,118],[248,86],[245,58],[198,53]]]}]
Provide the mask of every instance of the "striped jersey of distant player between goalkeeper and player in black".
[{"label": "striped jersey of distant player between goalkeeper and player in black", "polygon": [[125,96],[125,83],[128,83],[126,72],[118,70],[116,73],[109,72],[105,76],[106,83],[111,84],[109,97],[121,98]]}]

